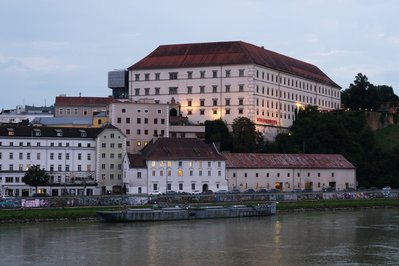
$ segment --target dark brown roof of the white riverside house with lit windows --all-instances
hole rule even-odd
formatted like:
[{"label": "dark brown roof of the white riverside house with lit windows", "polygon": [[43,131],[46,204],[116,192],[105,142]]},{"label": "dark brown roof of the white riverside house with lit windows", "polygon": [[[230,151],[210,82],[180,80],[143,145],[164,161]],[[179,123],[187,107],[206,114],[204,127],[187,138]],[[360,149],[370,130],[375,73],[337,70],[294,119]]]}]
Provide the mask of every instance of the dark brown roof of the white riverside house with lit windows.
[{"label": "dark brown roof of the white riverside house with lit windows", "polygon": [[196,138],[159,138],[142,155],[146,160],[225,160],[212,144]]}]

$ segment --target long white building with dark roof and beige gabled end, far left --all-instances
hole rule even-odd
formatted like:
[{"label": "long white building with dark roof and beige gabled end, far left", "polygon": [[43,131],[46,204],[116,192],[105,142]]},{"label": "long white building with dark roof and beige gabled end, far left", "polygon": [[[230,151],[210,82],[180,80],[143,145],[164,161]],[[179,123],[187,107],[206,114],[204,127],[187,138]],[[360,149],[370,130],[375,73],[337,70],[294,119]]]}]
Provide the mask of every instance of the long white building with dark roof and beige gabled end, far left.
[{"label": "long white building with dark roof and beige gabled end, far left", "polygon": [[[111,125],[102,128],[0,126],[0,194],[61,196],[120,191],[124,142],[124,135]],[[22,182],[25,171],[32,165],[46,170],[50,176],[49,186],[35,191]]]}]

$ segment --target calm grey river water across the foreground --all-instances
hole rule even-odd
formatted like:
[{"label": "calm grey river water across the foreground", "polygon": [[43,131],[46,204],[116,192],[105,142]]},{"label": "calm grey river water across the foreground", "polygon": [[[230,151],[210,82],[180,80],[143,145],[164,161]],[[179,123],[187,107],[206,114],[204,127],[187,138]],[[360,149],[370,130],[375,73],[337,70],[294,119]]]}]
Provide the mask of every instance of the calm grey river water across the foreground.
[{"label": "calm grey river water across the foreground", "polygon": [[399,265],[399,209],[3,224],[0,265]]}]

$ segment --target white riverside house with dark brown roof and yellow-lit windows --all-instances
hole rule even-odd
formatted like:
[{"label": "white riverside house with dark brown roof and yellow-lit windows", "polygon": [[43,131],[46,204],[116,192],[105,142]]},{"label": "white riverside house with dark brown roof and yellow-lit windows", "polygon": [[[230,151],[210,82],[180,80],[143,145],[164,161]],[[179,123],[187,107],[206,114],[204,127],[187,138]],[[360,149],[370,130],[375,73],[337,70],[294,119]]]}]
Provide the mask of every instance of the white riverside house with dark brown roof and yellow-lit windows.
[{"label": "white riverside house with dark brown roof and yellow-lit windows", "polygon": [[199,139],[159,138],[123,163],[128,194],[227,190],[225,159]]}]

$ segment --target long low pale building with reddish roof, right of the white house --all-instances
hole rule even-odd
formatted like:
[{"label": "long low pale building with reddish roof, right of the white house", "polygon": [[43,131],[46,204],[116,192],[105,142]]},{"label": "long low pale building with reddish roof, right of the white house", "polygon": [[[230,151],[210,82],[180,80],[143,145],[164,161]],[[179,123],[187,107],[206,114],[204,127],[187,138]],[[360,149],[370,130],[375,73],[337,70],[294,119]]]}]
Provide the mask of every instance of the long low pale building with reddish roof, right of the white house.
[{"label": "long low pale building with reddish roof, right of the white house", "polygon": [[223,153],[229,189],[322,191],[356,188],[356,168],[339,154]]}]

